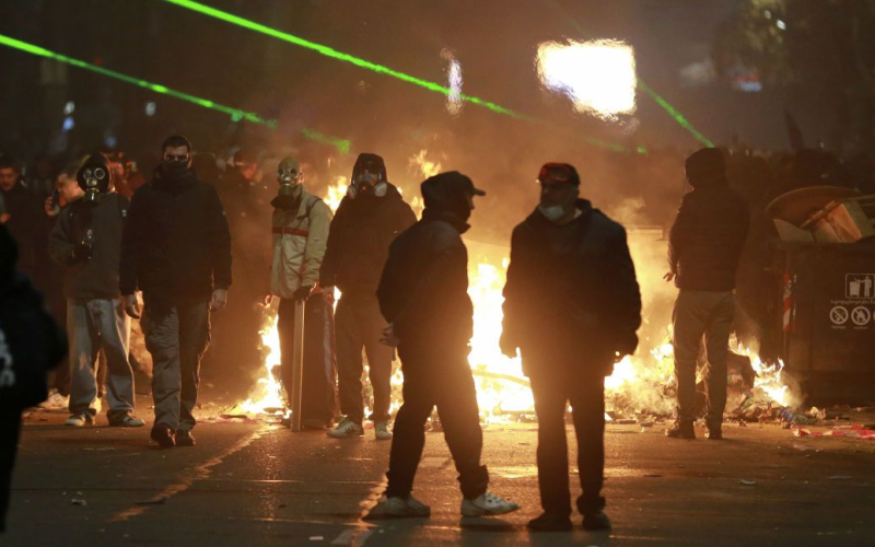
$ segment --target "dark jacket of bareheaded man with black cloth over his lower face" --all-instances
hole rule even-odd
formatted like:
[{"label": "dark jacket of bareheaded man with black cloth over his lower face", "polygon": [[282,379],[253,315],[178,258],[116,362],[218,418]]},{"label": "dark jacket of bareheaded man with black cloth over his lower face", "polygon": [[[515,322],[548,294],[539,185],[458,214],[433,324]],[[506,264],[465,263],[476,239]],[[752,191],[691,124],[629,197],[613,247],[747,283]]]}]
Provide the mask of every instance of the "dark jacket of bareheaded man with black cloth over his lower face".
[{"label": "dark jacket of bareheaded man with black cloth over his lower face", "polygon": [[231,286],[231,235],[215,188],[192,172],[171,179],[159,167],[133,195],[121,240],[121,294],[147,304],[209,298]]}]

